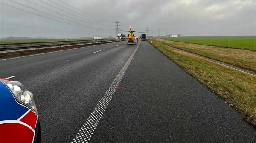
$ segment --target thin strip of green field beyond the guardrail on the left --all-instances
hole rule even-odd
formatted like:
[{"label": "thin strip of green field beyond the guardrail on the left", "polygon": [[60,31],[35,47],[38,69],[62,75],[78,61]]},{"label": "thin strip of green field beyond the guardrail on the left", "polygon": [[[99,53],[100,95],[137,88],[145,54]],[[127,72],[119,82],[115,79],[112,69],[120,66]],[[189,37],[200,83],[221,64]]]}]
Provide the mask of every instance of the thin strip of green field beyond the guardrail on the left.
[{"label": "thin strip of green field beyond the guardrail on the left", "polygon": [[[67,41],[92,40],[92,39],[67,39]],[[26,42],[55,42],[66,41],[66,39],[6,39],[0,40],[0,43],[26,43]]]}]

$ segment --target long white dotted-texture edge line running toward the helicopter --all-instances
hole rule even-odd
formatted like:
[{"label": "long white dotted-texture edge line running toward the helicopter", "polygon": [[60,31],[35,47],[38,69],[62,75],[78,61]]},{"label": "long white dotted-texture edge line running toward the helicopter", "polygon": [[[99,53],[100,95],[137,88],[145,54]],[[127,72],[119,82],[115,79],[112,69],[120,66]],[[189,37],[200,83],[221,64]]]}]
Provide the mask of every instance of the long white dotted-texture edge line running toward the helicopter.
[{"label": "long white dotted-texture edge line running toward the helicopter", "polygon": [[102,118],[102,115],[105,112],[106,108],[108,107],[108,104],[111,101],[111,98],[115,93],[118,84],[120,83],[122,77],[124,76],[125,71],[127,70],[139,46],[140,44],[135,48],[134,52],[129,57],[128,61],[122,67],[122,69],[120,70],[120,72],[118,73],[118,75],[116,76],[112,84],[110,85],[110,87],[108,87],[108,90],[102,96],[99,103],[93,109],[93,112],[90,114],[89,118],[87,118],[84,125],[81,127],[81,129],[79,130],[76,137],[73,139],[71,143],[88,143],[88,141],[90,140],[90,137],[92,137],[93,132],[96,129],[96,126],[98,125],[100,119]]}]

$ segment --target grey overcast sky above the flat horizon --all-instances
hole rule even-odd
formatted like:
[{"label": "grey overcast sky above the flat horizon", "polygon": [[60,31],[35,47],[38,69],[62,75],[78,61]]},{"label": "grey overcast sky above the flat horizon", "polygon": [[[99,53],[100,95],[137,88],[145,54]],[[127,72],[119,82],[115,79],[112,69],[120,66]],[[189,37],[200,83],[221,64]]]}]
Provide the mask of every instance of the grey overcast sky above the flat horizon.
[{"label": "grey overcast sky above the flat horizon", "polygon": [[256,0],[0,0],[0,37],[115,36],[118,20],[149,36],[256,35]]}]

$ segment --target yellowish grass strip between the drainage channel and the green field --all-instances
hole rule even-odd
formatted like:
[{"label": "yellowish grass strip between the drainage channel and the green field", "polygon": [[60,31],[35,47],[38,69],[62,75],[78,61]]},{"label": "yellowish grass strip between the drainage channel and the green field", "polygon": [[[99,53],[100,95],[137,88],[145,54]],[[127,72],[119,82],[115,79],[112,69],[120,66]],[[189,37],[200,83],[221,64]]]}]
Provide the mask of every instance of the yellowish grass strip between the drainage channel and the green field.
[{"label": "yellowish grass strip between the drainage channel and the green field", "polygon": [[154,39],[157,42],[256,72],[256,51]]}]

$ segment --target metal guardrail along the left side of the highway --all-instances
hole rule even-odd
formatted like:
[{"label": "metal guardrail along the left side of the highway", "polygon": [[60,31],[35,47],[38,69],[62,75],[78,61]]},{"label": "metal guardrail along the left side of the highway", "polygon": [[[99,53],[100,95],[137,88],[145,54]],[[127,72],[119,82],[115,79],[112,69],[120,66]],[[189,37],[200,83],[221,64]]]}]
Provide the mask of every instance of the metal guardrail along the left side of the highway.
[{"label": "metal guardrail along the left side of the highway", "polygon": [[55,41],[55,42],[26,42],[26,43],[0,43],[0,51],[4,50],[19,50],[19,49],[29,49],[29,48],[43,48],[64,46],[64,45],[78,45],[78,44],[98,44],[105,42],[116,42],[122,41],[117,39],[102,39],[102,40],[79,40],[79,41]]}]

